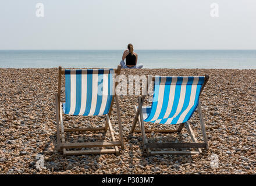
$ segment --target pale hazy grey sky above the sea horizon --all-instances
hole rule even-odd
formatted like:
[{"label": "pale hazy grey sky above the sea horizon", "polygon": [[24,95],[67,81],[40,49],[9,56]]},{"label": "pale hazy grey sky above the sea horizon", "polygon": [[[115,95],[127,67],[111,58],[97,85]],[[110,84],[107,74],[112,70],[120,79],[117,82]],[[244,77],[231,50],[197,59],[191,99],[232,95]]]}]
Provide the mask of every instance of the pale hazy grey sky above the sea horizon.
[{"label": "pale hazy grey sky above the sea horizon", "polygon": [[255,0],[1,0],[0,24],[0,49],[256,49]]}]

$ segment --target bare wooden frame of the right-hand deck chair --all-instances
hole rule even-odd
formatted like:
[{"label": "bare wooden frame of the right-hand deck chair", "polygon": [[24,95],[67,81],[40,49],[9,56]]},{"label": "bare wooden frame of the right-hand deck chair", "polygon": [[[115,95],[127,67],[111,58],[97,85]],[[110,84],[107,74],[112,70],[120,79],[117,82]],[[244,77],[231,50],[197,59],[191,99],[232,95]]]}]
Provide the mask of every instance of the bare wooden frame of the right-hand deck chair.
[{"label": "bare wooden frame of the right-hand deck chair", "polygon": [[[207,83],[209,79],[208,75],[205,75],[205,81],[204,84],[202,85],[200,95],[202,90],[205,87],[205,84]],[[152,78],[152,81],[155,81],[155,78]],[[152,155],[161,155],[161,154],[183,154],[183,155],[194,155],[194,154],[199,154],[202,153],[202,149],[204,148],[206,151],[208,151],[208,140],[207,140],[207,134],[205,131],[205,125],[204,125],[204,120],[203,120],[203,115],[202,115],[202,110],[201,110],[201,102],[200,98],[198,101],[198,106],[197,106],[197,111],[199,113],[199,118],[200,118],[200,124],[201,124],[201,130],[202,130],[202,137],[204,139],[204,142],[198,142],[197,138],[195,138],[195,134],[193,130],[190,127],[190,124],[188,121],[185,123],[181,123],[179,127],[176,130],[145,130],[144,127],[144,120],[143,120],[143,114],[142,114],[142,106],[143,102],[145,99],[145,95],[139,96],[138,98],[138,109],[137,106],[134,105],[134,112],[136,113],[133,121],[133,125],[131,127],[130,133],[133,134],[135,133],[141,133],[142,138],[143,138],[143,150],[147,152],[147,155],[152,156]],[[135,130],[136,124],[138,122],[138,127],[140,130]],[[166,143],[156,143],[156,142],[148,142],[147,136],[145,133],[178,133],[180,134],[183,127],[186,127],[190,138],[193,142],[191,143],[175,143],[175,142],[166,142]],[[152,151],[152,149],[164,149],[164,148],[173,148],[173,149],[190,149],[194,148],[197,149],[197,151]]]}]

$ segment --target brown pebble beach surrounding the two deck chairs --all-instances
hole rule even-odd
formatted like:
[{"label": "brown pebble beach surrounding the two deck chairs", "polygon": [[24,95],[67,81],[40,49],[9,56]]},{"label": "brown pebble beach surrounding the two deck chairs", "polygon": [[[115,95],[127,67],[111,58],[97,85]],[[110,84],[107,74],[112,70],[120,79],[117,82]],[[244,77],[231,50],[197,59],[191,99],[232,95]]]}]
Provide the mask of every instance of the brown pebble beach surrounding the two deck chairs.
[{"label": "brown pebble beach surrounding the two deck chairs", "polygon": [[[56,151],[55,92],[58,69],[0,69],[0,174],[256,174],[256,70],[128,69],[121,74],[204,76],[201,94],[209,150],[199,155],[155,155],[143,152],[140,133],[130,134],[137,95],[120,96],[125,149],[120,155],[63,156]],[[65,81],[62,102],[65,102]],[[147,105],[147,99],[145,105]],[[104,117],[63,116],[65,127],[102,127]],[[116,107],[111,116],[118,137]],[[151,128],[175,128],[155,125]],[[198,113],[190,120],[198,141]],[[149,140],[190,141],[180,135],[147,133]],[[109,134],[68,133],[66,141],[109,140]]]}]

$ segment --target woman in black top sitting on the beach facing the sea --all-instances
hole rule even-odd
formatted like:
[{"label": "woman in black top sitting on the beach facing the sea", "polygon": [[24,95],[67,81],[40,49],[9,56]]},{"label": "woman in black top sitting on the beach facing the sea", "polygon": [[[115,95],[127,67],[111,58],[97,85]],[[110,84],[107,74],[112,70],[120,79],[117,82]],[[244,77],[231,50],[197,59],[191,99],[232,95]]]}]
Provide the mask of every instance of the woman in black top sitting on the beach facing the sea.
[{"label": "woman in black top sitting on the beach facing the sea", "polygon": [[[120,65],[123,69],[141,69],[143,64],[137,65],[138,55],[137,53],[133,52],[133,45],[128,44],[127,50],[123,52],[123,57],[120,62]],[[125,60],[126,59],[126,63]]]}]

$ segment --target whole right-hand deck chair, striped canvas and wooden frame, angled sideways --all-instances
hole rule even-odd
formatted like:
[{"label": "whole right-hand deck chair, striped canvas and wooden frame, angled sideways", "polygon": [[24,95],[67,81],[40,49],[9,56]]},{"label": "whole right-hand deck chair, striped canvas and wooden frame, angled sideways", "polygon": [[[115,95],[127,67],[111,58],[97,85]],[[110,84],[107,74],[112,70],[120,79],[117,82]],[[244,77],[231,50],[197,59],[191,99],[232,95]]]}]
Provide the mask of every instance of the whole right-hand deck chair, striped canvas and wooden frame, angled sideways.
[{"label": "whole right-hand deck chair, striped canvas and wooden frame, angled sideways", "polygon": [[[155,154],[198,154],[201,148],[208,150],[207,135],[205,133],[204,120],[201,111],[200,94],[207,83],[209,76],[200,77],[153,77],[154,95],[151,106],[143,106],[145,95],[139,96],[138,107],[134,106],[136,116],[133,121],[130,133],[141,132],[143,137],[143,149],[147,151],[147,155]],[[193,131],[189,125],[189,119],[198,110],[202,136],[204,142],[199,143],[195,138]],[[140,130],[135,130],[136,123]],[[144,122],[158,124],[179,124],[176,130],[145,130]],[[145,133],[180,133],[183,127],[186,127],[191,143],[177,142],[148,142]],[[156,151],[161,149],[161,151]],[[162,151],[165,149],[165,151]],[[175,151],[168,151],[175,149]],[[183,149],[176,151],[176,149]],[[185,149],[185,150],[184,150]],[[188,149],[197,149],[196,151],[187,151]]]}]

